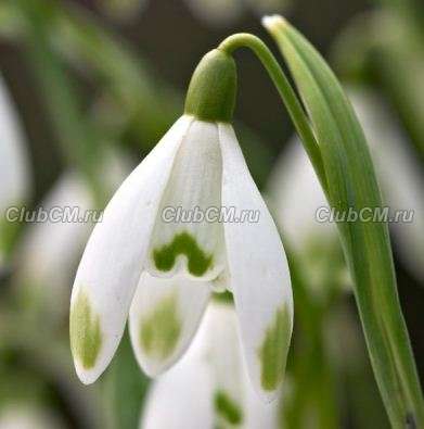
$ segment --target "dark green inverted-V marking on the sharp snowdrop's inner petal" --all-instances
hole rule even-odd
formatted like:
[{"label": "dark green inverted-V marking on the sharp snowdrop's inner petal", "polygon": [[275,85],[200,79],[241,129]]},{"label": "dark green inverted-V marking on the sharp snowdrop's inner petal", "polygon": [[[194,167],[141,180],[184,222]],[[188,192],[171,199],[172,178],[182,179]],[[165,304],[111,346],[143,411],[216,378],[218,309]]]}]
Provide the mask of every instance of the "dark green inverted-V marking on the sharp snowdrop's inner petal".
[{"label": "dark green inverted-V marking on the sharp snowdrop's inner petal", "polygon": [[169,272],[178,255],[185,255],[189,261],[189,272],[193,276],[202,276],[213,264],[213,256],[205,253],[197,244],[195,238],[189,232],[181,232],[174,237],[169,244],[153,251],[156,268],[160,272]]}]

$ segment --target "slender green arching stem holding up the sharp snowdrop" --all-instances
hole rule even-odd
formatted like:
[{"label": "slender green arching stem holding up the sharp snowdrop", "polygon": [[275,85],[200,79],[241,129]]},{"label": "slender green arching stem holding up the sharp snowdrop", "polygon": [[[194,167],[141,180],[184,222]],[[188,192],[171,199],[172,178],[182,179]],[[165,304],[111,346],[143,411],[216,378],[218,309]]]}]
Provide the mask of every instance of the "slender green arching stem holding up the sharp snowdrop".
[{"label": "slender green arching stem holding up the sharp snowdrop", "polygon": [[300,136],[305,150],[308,153],[321,186],[326,192],[327,185],[320,148],[296,92],[290,85],[280,64],[262,40],[248,33],[232,35],[224,39],[218,47],[219,50],[228,54],[232,54],[239,48],[250,49],[268,72],[288,111],[288,114],[292,117],[298,135]]}]

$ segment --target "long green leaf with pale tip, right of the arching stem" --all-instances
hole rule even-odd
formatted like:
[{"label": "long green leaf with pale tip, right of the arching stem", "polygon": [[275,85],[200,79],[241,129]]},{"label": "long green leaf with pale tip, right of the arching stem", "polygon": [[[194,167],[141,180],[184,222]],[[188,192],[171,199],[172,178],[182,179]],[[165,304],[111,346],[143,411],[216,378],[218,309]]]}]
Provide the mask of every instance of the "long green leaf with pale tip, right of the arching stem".
[{"label": "long green leaf with pale tip, right of the arching stem", "polygon": [[[293,74],[321,150],[337,211],[383,206],[367,141],[336,77],[281,17],[265,22]],[[424,427],[424,402],[401,313],[386,223],[339,223],[374,375],[393,427]]]}]

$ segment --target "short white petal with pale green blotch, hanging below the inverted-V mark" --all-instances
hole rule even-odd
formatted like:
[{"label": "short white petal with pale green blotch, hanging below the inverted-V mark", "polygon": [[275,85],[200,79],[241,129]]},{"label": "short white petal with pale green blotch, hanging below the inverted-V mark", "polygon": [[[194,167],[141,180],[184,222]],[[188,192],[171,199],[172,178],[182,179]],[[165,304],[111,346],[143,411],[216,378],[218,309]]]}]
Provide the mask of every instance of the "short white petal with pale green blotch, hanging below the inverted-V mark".
[{"label": "short white petal with pale green blotch, hanging below the inverted-V mark", "polygon": [[210,286],[182,276],[144,273],[130,310],[130,336],[143,370],[155,377],[168,369],[190,345],[209,301]]}]

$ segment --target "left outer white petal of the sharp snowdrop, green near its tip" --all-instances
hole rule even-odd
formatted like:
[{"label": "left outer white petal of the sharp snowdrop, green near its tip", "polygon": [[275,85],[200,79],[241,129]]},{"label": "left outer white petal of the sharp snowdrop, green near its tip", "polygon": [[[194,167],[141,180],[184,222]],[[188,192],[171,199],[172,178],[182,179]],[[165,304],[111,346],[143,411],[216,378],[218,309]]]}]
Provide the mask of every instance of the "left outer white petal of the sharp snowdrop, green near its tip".
[{"label": "left outer white petal of the sharp snowdrop, green near its tip", "polygon": [[121,338],[162,194],[191,117],[182,116],[131,173],[87,244],[70,300],[77,374],[93,382]]}]

